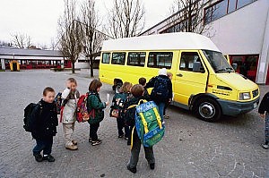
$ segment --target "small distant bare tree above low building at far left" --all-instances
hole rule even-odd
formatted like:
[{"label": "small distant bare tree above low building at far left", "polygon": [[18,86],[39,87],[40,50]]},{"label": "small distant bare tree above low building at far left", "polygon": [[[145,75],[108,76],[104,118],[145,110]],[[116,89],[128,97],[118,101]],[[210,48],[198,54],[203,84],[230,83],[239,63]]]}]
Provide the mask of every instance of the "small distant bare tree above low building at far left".
[{"label": "small distant bare tree above low building at far left", "polygon": [[31,38],[29,35],[17,32],[13,34],[12,37],[12,43],[15,47],[23,49],[32,46]]}]

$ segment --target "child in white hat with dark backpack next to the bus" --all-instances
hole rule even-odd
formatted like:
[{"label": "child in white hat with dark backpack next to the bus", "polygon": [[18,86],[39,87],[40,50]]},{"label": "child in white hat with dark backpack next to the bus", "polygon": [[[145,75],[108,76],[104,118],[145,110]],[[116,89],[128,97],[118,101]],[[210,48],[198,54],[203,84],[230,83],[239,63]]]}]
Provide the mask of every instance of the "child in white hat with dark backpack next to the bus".
[{"label": "child in white hat with dark backpack next to the bus", "polygon": [[161,120],[163,121],[163,112],[166,103],[171,102],[173,97],[172,82],[167,76],[166,68],[159,71],[159,76],[153,77],[145,86],[145,89],[152,89],[151,98],[159,107]]}]

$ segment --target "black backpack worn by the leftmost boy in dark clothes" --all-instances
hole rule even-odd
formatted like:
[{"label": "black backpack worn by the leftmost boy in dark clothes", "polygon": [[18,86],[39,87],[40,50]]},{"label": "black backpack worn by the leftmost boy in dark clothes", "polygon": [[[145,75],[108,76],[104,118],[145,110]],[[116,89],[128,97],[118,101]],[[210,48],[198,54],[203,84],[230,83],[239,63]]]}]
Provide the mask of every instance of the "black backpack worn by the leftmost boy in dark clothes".
[{"label": "black backpack worn by the leftmost boy in dark clothes", "polygon": [[39,102],[38,104],[36,103],[30,103],[28,106],[26,106],[24,108],[24,118],[23,118],[23,128],[25,131],[29,131],[31,132],[30,130],[30,115],[32,114],[33,110],[35,107],[39,107],[40,108],[40,112],[39,114],[41,114],[42,112],[42,106],[41,106],[41,103]]}]

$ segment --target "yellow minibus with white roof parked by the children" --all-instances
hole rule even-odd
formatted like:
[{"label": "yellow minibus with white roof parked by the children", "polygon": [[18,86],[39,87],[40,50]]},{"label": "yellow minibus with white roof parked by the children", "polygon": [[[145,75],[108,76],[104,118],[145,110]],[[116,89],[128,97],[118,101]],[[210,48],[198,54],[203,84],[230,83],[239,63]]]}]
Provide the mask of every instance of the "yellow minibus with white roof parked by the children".
[{"label": "yellow minibus with white roof parked by the children", "polygon": [[210,38],[179,32],[104,41],[100,81],[117,85],[150,80],[161,68],[173,73],[172,104],[204,121],[247,113],[258,105],[259,88],[236,73]]}]

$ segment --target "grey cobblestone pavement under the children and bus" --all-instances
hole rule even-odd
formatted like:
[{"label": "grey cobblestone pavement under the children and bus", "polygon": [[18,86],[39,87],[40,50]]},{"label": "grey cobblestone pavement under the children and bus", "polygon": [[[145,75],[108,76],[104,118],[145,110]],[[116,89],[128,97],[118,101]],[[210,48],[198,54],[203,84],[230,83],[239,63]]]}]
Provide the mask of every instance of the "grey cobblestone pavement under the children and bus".
[{"label": "grey cobblestone pavement under the children and bus", "polygon": [[[66,150],[59,124],[52,151],[56,162],[36,162],[31,153],[35,141],[22,128],[24,107],[38,102],[46,86],[65,89],[65,80],[71,76],[85,93],[91,81],[88,72],[0,72],[0,177],[269,177],[268,150],[260,147],[265,122],[256,110],[206,123],[171,106],[165,137],[154,146],[155,170],[150,170],[142,149],[137,173],[132,174],[126,170],[129,147],[126,140],[117,139],[116,120],[108,117],[107,109],[98,131],[102,144],[92,147],[88,123],[76,123],[74,139],[79,150]],[[269,87],[260,89],[263,97]],[[111,100],[111,86],[104,84],[103,100],[107,93]]]}]

